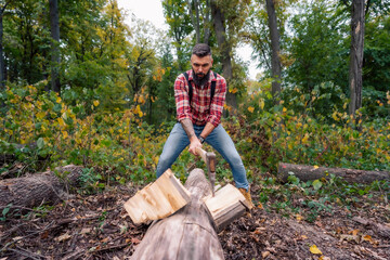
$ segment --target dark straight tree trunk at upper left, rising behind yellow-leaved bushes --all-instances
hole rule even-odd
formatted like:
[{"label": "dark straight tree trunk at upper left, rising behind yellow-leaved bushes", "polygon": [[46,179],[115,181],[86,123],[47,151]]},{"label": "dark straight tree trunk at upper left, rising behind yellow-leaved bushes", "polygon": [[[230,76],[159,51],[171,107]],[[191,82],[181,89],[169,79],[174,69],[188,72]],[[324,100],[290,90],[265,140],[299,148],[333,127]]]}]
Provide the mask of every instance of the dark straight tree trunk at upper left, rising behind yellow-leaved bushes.
[{"label": "dark straight tree trunk at upper left, rising behind yellow-leaved bushes", "polygon": [[60,83],[60,18],[58,18],[58,1],[49,0],[50,5],[50,27],[52,37],[52,53],[51,53],[51,86],[52,90],[61,94]]}]

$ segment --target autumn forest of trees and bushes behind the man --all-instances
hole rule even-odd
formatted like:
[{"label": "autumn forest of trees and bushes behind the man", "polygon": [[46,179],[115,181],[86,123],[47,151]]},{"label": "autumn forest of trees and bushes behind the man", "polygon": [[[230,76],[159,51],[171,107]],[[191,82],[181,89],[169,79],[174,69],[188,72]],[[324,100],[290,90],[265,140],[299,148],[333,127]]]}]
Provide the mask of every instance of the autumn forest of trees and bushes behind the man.
[{"label": "autumn forest of trees and bushes behind the man", "polygon": [[[87,193],[155,180],[173,82],[196,42],[229,82],[223,125],[251,182],[274,183],[281,161],[389,171],[389,6],[164,0],[167,32],[126,25],[115,0],[1,0],[0,174],[82,165]],[[263,72],[256,80],[235,54],[243,42]],[[173,172],[184,180],[193,159],[184,152]],[[222,158],[217,170],[232,181]]]}]

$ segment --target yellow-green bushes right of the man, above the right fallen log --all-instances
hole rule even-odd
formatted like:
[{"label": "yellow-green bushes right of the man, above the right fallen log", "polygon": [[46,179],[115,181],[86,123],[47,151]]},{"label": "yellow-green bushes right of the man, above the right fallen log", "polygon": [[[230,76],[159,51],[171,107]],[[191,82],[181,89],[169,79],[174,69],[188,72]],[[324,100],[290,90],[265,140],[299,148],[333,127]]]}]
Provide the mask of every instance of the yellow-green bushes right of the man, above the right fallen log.
[{"label": "yellow-green bushes right of the man, above the right fallen log", "polygon": [[[280,105],[272,106],[268,91],[252,92],[240,106],[242,117],[225,122],[245,161],[272,172],[276,171],[278,161],[389,170],[388,119],[372,121],[361,113],[362,119],[356,122],[336,106],[328,107],[328,116],[323,117],[316,107],[333,102],[332,94],[320,93],[321,89],[314,89],[308,95],[297,88],[296,94],[282,94],[284,100]],[[347,100],[338,99],[344,104],[341,109],[346,109]],[[389,109],[389,104],[380,105]]]}]

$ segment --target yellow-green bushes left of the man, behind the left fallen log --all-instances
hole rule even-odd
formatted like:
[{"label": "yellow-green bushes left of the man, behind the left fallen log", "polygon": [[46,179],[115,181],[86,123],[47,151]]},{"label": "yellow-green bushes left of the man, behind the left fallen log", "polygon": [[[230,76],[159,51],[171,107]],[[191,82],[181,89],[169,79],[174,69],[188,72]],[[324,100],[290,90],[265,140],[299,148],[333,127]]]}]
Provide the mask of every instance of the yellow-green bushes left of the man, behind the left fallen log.
[{"label": "yellow-green bushes left of the man, behind the left fallen log", "polygon": [[[25,165],[17,176],[67,164],[83,165],[83,187],[90,193],[109,183],[150,182],[155,178],[161,135],[142,122],[139,106],[123,113],[86,114],[84,104],[66,105],[54,92],[39,94],[26,86],[8,89],[0,114],[0,153],[12,155],[2,171]],[[95,110],[99,102],[92,102]],[[134,114],[136,113],[136,114]],[[169,125],[168,125],[169,126]]]}]

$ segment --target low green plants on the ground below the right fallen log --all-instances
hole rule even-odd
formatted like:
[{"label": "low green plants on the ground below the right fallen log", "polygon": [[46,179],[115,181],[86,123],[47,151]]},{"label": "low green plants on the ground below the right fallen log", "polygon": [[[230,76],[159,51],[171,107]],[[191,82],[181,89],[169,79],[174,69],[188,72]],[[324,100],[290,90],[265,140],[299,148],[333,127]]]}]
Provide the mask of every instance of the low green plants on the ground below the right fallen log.
[{"label": "low green plants on the ground below the right fallen log", "polygon": [[[390,191],[387,181],[369,185],[350,184],[332,174],[328,179],[301,182],[294,172],[289,172],[288,182],[284,185],[273,178],[264,178],[259,184],[259,202],[265,210],[309,222],[333,214],[336,207],[348,209],[362,200],[373,205],[388,204],[386,196]],[[370,200],[374,195],[376,199]]]}]

